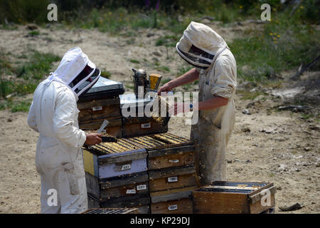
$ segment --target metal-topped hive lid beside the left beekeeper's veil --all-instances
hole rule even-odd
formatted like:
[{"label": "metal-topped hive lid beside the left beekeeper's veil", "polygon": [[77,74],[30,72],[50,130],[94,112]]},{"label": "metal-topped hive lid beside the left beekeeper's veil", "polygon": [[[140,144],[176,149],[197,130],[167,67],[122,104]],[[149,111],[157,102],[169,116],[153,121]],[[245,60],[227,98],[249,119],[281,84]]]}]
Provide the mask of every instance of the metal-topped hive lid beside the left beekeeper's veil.
[{"label": "metal-topped hive lid beside the left beekeeper's veil", "polygon": [[123,93],[124,87],[122,83],[100,77],[97,83],[95,83],[90,90],[87,90],[87,93],[82,93],[82,95],[79,96],[79,102],[92,100],[94,98],[114,97]]}]

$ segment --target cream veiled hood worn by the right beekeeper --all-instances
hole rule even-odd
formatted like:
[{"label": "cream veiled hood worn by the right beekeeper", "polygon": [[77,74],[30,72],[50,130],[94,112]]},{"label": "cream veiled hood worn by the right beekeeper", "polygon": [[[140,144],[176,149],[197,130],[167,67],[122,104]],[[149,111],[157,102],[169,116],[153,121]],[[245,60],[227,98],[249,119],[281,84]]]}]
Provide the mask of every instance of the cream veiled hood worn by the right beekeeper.
[{"label": "cream veiled hood worn by the right beekeeper", "polygon": [[176,51],[181,58],[203,69],[211,66],[226,47],[227,43],[212,28],[194,21],[191,21],[176,43]]}]

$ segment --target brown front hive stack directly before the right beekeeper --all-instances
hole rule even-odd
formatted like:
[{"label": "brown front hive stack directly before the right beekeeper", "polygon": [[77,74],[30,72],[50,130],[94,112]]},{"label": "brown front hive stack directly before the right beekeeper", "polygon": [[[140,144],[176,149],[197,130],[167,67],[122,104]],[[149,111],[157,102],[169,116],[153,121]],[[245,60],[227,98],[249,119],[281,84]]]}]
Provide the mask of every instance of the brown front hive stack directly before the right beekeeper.
[{"label": "brown front hive stack directly before the right beekeeper", "polygon": [[169,133],[154,138],[169,146],[146,149],[151,214],[192,213],[191,193],[196,188],[193,143]]}]

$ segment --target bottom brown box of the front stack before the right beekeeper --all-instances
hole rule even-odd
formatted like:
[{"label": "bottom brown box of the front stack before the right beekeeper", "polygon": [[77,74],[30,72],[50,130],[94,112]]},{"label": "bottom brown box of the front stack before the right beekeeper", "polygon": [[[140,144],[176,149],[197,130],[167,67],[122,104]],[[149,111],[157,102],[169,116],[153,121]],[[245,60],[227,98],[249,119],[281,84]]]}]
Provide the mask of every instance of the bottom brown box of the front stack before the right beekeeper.
[{"label": "bottom brown box of the front stack before the right beekeeper", "polygon": [[151,214],[192,214],[192,191],[196,187],[150,192]]}]

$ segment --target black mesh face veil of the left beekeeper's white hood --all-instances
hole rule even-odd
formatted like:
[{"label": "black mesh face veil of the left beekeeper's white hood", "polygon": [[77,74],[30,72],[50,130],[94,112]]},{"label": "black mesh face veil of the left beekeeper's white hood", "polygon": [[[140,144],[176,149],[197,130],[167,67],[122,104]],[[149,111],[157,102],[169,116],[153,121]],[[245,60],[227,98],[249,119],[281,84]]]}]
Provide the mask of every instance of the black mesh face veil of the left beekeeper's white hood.
[{"label": "black mesh face veil of the left beekeeper's white hood", "polygon": [[80,94],[87,92],[87,90],[97,82],[99,77],[100,70],[97,68],[91,68],[87,65],[79,75],[73,79],[69,86],[79,96]]}]

